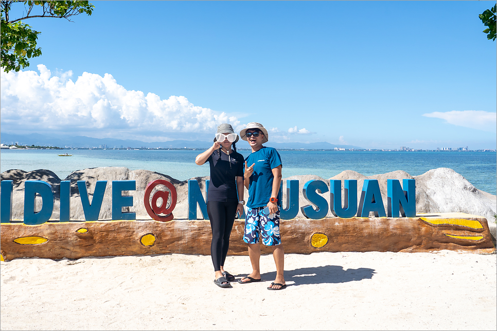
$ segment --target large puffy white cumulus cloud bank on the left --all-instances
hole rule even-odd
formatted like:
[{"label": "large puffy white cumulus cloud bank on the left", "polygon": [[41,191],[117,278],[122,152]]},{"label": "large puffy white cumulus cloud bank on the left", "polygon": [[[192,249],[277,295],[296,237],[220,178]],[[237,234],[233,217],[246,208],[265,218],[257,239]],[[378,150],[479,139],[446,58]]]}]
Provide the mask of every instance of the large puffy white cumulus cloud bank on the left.
[{"label": "large puffy white cumulus cloud bank on the left", "polygon": [[1,72],[4,129],[63,128],[108,132],[107,137],[129,132],[159,138],[161,132],[212,132],[220,123],[240,124],[236,116],[195,106],[184,96],[161,99],[154,93],[129,91],[108,73],[102,77],[84,72],[73,82],[71,71],[52,73],[44,65],[38,65],[38,71]]}]

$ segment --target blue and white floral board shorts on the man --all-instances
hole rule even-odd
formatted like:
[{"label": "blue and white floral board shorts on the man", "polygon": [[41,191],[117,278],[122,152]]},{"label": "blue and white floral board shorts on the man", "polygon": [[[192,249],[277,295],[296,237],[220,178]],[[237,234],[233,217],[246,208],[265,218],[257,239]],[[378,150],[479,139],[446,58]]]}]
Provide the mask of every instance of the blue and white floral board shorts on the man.
[{"label": "blue and white floral board shorts on the man", "polygon": [[245,217],[245,233],[243,241],[247,244],[258,244],[259,233],[262,243],[266,246],[276,246],[281,244],[279,236],[279,207],[274,214],[264,215],[264,207],[249,208]]}]

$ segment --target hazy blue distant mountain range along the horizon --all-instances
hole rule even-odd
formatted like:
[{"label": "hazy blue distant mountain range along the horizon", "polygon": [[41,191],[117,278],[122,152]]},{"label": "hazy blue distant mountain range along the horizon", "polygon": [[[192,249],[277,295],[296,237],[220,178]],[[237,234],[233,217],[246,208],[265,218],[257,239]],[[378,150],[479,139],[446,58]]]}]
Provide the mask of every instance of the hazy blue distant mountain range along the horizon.
[{"label": "hazy blue distant mountain range along the horizon", "polygon": [[[50,137],[45,134],[31,133],[31,134],[11,134],[0,133],[0,143],[11,145],[19,143],[20,145],[35,145],[35,146],[57,146],[57,147],[79,147],[79,148],[209,148],[212,142],[199,141],[199,140],[172,140],[168,142],[153,142],[146,143],[139,140],[122,140],[113,138],[91,138],[78,135],[76,137]],[[276,149],[363,149],[362,147],[352,145],[333,145],[327,142],[319,143],[273,143],[268,142],[265,146],[274,147]],[[239,143],[239,148],[249,148],[246,143]]]}]

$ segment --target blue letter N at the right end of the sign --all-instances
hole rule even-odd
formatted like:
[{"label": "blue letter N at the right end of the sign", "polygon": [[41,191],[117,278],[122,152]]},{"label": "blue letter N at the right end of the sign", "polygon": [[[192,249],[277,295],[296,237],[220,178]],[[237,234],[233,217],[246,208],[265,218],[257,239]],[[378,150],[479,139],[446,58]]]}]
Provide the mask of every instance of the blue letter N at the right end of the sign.
[{"label": "blue letter N at the right end of the sign", "polygon": [[398,180],[386,180],[388,217],[416,217],[416,181],[403,179],[402,186],[405,190]]}]

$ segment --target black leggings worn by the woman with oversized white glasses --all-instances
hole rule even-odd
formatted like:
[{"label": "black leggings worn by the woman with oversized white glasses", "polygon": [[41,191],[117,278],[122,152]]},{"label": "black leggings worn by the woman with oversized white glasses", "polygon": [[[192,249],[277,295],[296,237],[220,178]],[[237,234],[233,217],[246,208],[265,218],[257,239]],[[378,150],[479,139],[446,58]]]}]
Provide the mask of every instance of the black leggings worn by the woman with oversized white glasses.
[{"label": "black leggings worn by the woman with oversized white glasses", "polygon": [[210,243],[210,257],[214,264],[214,271],[221,270],[228,254],[229,235],[233,229],[238,202],[208,201],[207,214],[209,215],[212,229],[212,242]]}]

